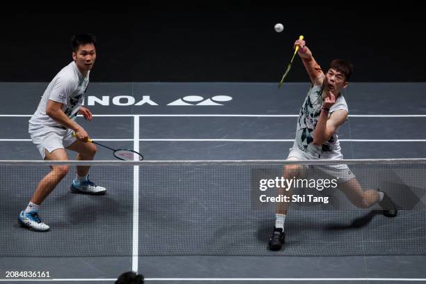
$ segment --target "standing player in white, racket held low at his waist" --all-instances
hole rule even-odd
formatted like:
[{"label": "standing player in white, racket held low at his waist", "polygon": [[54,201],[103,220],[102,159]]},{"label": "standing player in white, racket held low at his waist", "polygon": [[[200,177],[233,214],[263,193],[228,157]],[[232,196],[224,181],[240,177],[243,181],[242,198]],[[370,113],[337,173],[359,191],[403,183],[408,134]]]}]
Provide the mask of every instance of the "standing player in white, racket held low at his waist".
[{"label": "standing player in white, racket held low at his waist", "polygon": [[[68,160],[65,149],[77,152],[78,160],[92,160],[97,151],[96,146],[88,142],[86,130],[75,122],[77,113],[86,120],[92,119],[92,113],[81,104],[90,70],[96,60],[96,39],[90,34],[81,34],[74,36],[71,43],[73,61],[58,72],[47,86],[36,112],[29,120],[31,140],[42,158],[49,161]],[[51,168],[52,171],[38,183],[29,205],[19,214],[19,223],[31,230],[49,230],[49,226],[38,216],[39,207],[70,170],[66,165]],[[88,180],[89,168],[77,166],[71,190],[82,194],[105,194],[104,187]]]}]

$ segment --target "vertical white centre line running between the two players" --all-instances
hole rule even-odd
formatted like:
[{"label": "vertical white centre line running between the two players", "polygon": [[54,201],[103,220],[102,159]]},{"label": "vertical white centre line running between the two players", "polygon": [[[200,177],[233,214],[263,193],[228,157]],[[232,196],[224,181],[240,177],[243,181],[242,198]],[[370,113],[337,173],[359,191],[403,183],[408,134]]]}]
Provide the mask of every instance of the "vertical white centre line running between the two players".
[{"label": "vertical white centre line running between the two players", "polygon": [[[133,149],[139,152],[139,116],[134,117]],[[136,159],[136,157],[135,157]],[[139,258],[139,166],[133,166],[133,248],[132,271],[138,272]]]}]

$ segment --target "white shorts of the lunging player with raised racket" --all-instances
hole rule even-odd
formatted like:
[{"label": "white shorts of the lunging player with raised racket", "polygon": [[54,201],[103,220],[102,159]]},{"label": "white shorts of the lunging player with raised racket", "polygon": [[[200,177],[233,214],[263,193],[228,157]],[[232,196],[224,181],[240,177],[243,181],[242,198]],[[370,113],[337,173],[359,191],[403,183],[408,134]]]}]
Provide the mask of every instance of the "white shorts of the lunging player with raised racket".
[{"label": "white shorts of the lunging player with raised racket", "polygon": [[[290,148],[290,153],[288,154],[287,159],[290,157],[296,158],[298,160],[308,160],[308,159],[319,159],[315,158],[308,153],[303,152],[299,148]],[[343,155],[335,157],[336,159],[343,159]],[[317,166],[308,166],[303,165],[303,168],[306,168],[308,172],[313,170],[314,173],[323,173],[329,175],[330,177],[336,178],[338,183],[347,182],[355,178],[354,173],[349,169],[345,164],[336,164],[336,165],[317,165]]]}]

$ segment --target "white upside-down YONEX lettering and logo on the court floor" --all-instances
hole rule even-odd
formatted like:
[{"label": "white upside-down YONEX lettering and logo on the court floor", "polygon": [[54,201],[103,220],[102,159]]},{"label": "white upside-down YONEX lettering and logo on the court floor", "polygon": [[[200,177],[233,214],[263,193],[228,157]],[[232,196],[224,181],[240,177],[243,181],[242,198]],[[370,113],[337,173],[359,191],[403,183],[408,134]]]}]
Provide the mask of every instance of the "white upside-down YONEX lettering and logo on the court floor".
[{"label": "white upside-down YONEX lettering and logo on the court floor", "polygon": [[[166,105],[168,106],[223,106],[225,102],[232,100],[232,97],[228,95],[215,95],[213,97],[202,97],[200,95],[187,95],[181,97],[178,100],[173,100]],[[103,95],[102,98],[89,95],[87,97],[87,105],[95,106],[99,104],[101,106],[109,106],[112,102],[115,106],[142,106],[148,104],[150,106],[158,106],[157,102],[151,99],[149,95],[142,96],[142,100],[136,101],[136,99],[130,95],[118,95],[111,97],[109,95]]]}]

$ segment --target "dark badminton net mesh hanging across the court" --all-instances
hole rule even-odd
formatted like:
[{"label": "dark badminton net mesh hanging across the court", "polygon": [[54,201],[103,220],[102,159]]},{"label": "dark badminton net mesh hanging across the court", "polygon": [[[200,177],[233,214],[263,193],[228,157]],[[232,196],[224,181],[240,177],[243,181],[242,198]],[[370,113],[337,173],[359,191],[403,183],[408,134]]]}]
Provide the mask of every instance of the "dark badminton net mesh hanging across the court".
[{"label": "dark badminton net mesh hanging across the court", "polygon": [[[316,165],[301,165],[306,178],[317,183],[292,189],[306,200],[290,204],[283,250],[269,251],[278,203],[260,198],[279,196],[280,187],[260,190],[260,180],[283,177],[284,164],[92,162],[90,180],[107,188],[104,196],[72,194],[72,164],[40,207],[40,216],[51,229],[33,232],[21,228],[17,217],[49,173],[49,164],[3,161],[0,255],[132,255],[134,214],[139,218],[139,255],[426,254],[426,161],[349,164],[363,191],[380,189],[395,201],[400,209],[395,218],[384,216],[377,204],[356,207],[339,190],[341,182],[336,188],[318,190],[318,180],[333,179],[333,174],[318,172]],[[309,202],[308,196],[322,202]]]}]

